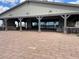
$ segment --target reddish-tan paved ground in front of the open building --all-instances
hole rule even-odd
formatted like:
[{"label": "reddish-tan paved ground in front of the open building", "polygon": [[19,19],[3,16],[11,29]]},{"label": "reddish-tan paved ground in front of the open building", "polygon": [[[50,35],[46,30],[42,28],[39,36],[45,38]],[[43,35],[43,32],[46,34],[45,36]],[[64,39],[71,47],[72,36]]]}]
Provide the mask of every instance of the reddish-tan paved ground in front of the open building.
[{"label": "reddish-tan paved ground in front of the open building", "polygon": [[2,31],[0,59],[79,59],[79,37],[55,32]]}]

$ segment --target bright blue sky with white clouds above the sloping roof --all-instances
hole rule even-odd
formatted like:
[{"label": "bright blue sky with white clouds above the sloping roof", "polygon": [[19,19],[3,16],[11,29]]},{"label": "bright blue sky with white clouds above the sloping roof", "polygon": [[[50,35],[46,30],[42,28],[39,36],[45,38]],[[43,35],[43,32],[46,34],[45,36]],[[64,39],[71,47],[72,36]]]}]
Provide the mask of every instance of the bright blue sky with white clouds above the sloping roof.
[{"label": "bright blue sky with white clouds above the sloping roof", "polygon": [[[9,8],[23,2],[25,0],[0,0],[0,13],[8,10]],[[63,2],[71,4],[79,4],[79,0],[48,0],[49,2]]]}]

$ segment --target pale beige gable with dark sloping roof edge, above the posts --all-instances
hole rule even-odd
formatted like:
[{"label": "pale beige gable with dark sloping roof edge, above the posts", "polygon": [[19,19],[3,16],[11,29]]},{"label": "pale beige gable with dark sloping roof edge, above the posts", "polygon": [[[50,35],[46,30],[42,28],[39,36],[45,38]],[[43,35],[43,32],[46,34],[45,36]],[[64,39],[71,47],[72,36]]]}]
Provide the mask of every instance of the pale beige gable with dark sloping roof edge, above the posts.
[{"label": "pale beige gable with dark sloping roof edge, above the posts", "polygon": [[[21,8],[19,8],[19,7],[30,7],[30,6],[32,6],[32,5],[30,5],[30,4],[37,4],[37,6],[36,5],[34,5],[33,7],[35,7],[36,9],[37,9],[37,7],[39,7],[39,8],[46,8],[46,9],[44,9],[44,10],[47,10],[47,9],[52,9],[52,11],[53,10],[55,10],[55,9],[57,9],[57,7],[60,7],[60,9],[58,8],[58,10],[59,10],[59,12],[56,12],[55,11],[55,13],[44,13],[44,14],[33,14],[33,15],[18,15],[17,14],[17,12],[19,11],[19,9],[21,9]],[[25,6],[24,6],[25,5]],[[27,6],[28,5],[28,6]],[[43,5],[43,6],[42,6]],[[56,6],[56,8],[55,8],[55,6]],[[54,7],[54,9],[53,9],[53,7]],[[19,8],[19,9],[18,9]],[[39,8],[37,9],[37,10],[39,10]],[[63,8],[63,9],[62,9]],[[28,9],[28,10],[32,10],[32,8],[26,8],[26,9]],[[67,10],[67,11],[65,11],[65,9]],[[18,16],[11,16],[10,14],[13,14],[14,12],[15,12],[15,10],[16,10],[16,14],[18,15]],[[23,11],[23,9],[22,9],[22,11],[23,12],[25,12],[25,11],[28,11],[28,10],[24,10]],[[37,11],[36,10],[36,11]],[[44,11],[43,10],[43,11]],[[35,10],[33,11],[33,12],[36,12]],[[63,11],[63,12],[62,12]],[[65,11],[65,12],[64,12]],[[28,11],[28,12],[30,12],[30,11]],[[31,11],[32,12],[32,11]],[[42,12],[42,10],[40,11],[41,13],[43,13]],[[21,14],[20,12],[19,12],[19,14]],[[69,14],[69,15],[71,15],[71,14],[79,14],[79,5],[74,5],[74,4],[64,4],[64,3],[52,3],[52,2],[41,2],[41,1],[25,1],[25,2],[23,2],[23,3],[21,3],[21,4],[19,4],[19,5],[17,5],[17,6],[15,6],[15,7],[13,7],[13,8],[11,8],[11,9],[9,9],[9,10],[7,10],[7,11],[5,11],[4,13],[2,13],[2,14],[0,14],[0,18],[19,18],[19,17],[38,17],[38,16],[41,16],[41,17],[46,17],[46,16],[58,16],[58,15],[64,15],[64,14]],[[7,15],[8,15],[8,17],[7,17]]]}]

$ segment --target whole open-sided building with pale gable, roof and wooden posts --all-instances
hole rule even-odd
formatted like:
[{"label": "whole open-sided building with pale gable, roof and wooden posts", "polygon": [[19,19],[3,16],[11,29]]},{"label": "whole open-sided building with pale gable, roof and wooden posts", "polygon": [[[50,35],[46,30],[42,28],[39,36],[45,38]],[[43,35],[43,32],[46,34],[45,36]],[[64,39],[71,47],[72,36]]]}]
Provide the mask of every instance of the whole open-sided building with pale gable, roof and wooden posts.
[{"label": "whole open-sided building with pale gable, roof and wooden posts", "polygon": [[71,4],[25,1],[0,14],[2,30],[79,33],[79,7]]}]

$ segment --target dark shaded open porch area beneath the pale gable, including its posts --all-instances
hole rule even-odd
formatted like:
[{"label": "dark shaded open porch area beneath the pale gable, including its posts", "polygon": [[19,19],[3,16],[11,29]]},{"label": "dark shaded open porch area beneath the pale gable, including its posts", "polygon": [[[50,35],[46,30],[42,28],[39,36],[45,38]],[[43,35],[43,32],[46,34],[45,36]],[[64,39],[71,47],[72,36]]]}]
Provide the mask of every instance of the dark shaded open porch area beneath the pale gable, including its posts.
[{"label": "dark shaded open porch area beneath the pale gable, including its posts", "polygon": [[60,15],[60,16],[45,16],[45,17],[22,17],[2,19],[2,30],[15,31],[54,31],[64,33],[79,32],[79,15]]}]

